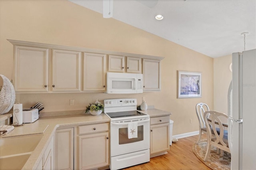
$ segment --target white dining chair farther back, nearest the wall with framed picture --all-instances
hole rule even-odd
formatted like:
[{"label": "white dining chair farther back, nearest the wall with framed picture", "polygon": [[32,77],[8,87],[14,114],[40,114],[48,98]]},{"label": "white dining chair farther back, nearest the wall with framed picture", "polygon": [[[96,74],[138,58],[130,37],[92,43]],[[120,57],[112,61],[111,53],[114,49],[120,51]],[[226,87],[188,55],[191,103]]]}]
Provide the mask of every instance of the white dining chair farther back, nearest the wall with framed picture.
[{"label": "white dining chair farther back, nearest the wall with framed picture", "polygon": [[206,105],[205,103],[196,104],[196,115],[197,115],[198,123],[199,123],[199,136],[198,136],[198,140],[196,141],[196,144],[198,144],[198,142],[200,141],[202,133],[206,134],[204,112],[209,111],[209,110],[210,109],[209,109],[208,105]]}]

